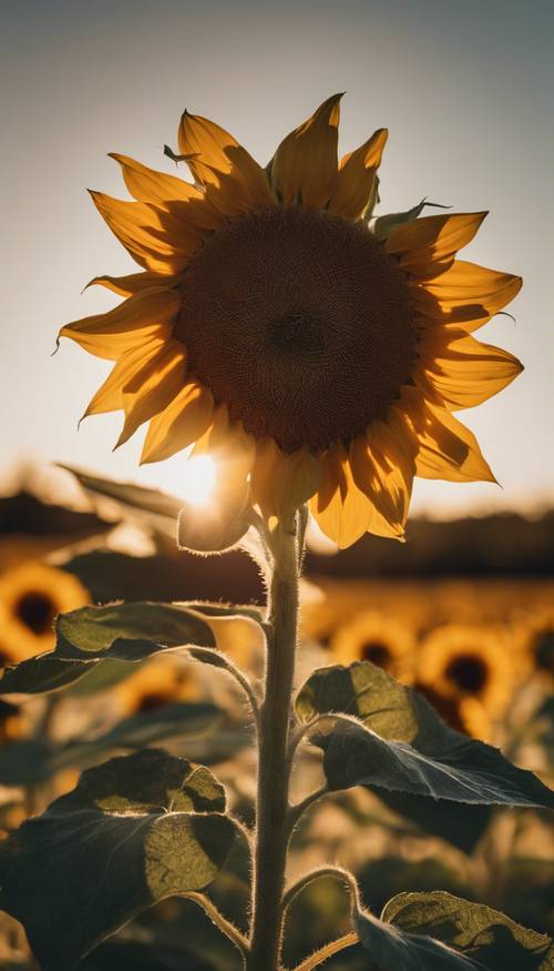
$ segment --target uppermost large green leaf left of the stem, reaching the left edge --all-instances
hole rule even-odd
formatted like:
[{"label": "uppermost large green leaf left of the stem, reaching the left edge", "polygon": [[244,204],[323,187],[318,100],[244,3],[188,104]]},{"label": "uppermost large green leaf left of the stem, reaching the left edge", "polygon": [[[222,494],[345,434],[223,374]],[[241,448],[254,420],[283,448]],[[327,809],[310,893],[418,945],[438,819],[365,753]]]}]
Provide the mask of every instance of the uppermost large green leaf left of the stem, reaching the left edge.
[{"label": "uppermost large green leaf left of the stem, reaching the left edge", "polygon": [[138,661],[160,650],[195,644],[214,647],[215,637],[186,604],[109,604],[61,614],[53,651],[8,668],[0,695],[54,691],[105,660]]}]

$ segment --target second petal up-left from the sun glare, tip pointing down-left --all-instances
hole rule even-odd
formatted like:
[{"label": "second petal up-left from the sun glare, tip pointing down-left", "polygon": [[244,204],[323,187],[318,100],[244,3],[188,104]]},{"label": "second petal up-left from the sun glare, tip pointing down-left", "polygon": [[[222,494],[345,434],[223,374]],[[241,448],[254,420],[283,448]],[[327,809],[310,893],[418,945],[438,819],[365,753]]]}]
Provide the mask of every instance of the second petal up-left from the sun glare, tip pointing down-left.
[{"label": "second petal up-left from the sun glare, tip pointing down-left", "polygon": [[185,348],[179,341],[170,341],[130,377],[123,386],[125,423],[116,447],[167,407],[183,387],[185,373]]}]

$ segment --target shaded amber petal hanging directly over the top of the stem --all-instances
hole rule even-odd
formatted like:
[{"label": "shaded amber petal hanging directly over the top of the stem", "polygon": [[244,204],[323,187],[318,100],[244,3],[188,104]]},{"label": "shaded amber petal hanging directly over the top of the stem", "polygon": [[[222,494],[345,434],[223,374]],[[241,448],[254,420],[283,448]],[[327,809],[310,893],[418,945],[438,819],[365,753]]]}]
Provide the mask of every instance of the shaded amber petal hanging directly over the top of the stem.
[{"label": "shaded amber petal hanging directly over the top of the stem", "polygon": [[263,438],[252,472],[253,502],[266,519],[288,520],[317,492],[320,476],[319,459],[307,448],[287,454],[273,438]]}]

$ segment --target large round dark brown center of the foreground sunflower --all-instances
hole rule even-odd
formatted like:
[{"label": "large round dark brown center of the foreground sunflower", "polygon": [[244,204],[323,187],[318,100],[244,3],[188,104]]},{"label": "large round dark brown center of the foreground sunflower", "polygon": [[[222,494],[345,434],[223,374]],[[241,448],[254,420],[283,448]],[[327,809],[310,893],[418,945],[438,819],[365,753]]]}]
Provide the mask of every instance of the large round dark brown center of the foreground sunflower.
[{"label": "large round dark brown center of the foreground sunflower", "polygon": [[286,451],[350,441],[411,381],[407,277],[361,222],[301,206],[239,216],[192,261],[182,294],[189,372]]}]

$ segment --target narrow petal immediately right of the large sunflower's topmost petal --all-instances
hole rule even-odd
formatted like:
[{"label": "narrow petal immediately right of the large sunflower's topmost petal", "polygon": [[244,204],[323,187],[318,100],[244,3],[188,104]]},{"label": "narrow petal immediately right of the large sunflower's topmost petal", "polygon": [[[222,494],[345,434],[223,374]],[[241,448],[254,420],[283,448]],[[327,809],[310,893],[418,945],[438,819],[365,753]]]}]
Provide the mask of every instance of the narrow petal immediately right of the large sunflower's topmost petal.
[{"label": "narrow petal immediately right of the large sunflower's topmost petal", "polygon": [[361,219],[373,194],[377,170],[387,144],[388,131],[378,129],[371,138],[341,159],[329,211],[346,219]]}]

